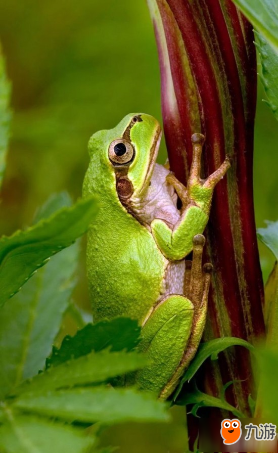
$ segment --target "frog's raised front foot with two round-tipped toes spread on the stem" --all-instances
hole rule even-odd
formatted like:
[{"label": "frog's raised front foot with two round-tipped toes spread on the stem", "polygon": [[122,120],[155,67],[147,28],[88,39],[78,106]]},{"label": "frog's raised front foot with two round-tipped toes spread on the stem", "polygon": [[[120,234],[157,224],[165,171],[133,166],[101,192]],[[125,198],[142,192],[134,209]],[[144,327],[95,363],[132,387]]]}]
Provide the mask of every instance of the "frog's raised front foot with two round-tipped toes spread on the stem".
[{"label": "frog's raised front foot with two round-tipped toes spread on the stem", "polygon": [[205,137],[201,133],[192,135],[193,159],[188,180],[188,193],[191,201],[209,211],[213,189],[230,167],[230,156],[227,155],[220,167],[206,179],[201,178],[201,155]]}]

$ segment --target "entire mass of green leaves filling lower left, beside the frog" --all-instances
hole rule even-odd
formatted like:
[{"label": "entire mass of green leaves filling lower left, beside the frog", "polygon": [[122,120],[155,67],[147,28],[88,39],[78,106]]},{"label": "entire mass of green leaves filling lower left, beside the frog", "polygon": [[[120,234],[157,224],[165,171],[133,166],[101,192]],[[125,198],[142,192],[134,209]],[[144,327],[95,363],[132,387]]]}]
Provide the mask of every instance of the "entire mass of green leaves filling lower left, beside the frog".
[{"label": "entire mass of green leaves filling lower left, beside the frog", "polygon": [[19,275],[19,282],[26,268],[60,252],[1,309],[0,450],[5,453],[96,452],[96,432],[86,433],[80,425],[169,419],[166,404],[154,395],[109,384],[147,365],[132,351],[140,336],[135,321],[85,326],[54,348],[47,369],[37,374],[70,304],[78,257],[72,242],[97,211],[95,200],[69,205],[64,193],[52,197],[38,210],[33,227],[2,240],[0,279],[7,279],[6,294],[7,288],[19,289],[9,278]]}]

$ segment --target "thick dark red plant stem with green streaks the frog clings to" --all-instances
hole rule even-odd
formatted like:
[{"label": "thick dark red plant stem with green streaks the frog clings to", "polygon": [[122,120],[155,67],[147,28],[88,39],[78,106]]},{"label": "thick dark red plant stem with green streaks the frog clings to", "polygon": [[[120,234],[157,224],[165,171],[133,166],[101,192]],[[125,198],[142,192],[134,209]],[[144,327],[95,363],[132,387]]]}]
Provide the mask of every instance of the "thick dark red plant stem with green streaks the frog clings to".
[{"label": "thick dark red plant stem with green streaks the frog clings to", "polygon": [[[149,0],[161,69],[164,131],[172,171],[186,183],[191,134],[206,136],[204,174],[226,153],[232,168],[216,187],[206,230],[215,272],[205,337],[264,334],[263,285],[253,206],[256,55],[252,27],[230,0]],[[220,374],[219,374],[220,373]],[[221,378],[220,378],[221,376]],[[253,379],[242,348],[221,354],[207,373],[213,394],[222,383],[228,400],[249,414]]]}]

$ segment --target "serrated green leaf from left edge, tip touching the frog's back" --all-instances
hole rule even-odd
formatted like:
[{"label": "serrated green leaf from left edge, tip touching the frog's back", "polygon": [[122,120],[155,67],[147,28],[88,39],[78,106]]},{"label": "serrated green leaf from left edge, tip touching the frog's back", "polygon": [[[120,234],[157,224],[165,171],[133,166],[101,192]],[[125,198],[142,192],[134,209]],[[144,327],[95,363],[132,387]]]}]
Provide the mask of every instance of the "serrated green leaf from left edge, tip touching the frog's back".
[{"label": "serrated green leaf from left edge, tip touching the frog's back", "polygon": [[0,306],[26,283],[48,258],[71,245],[96,215],[95,199],[80,200],[26,231],[0,240]]}]

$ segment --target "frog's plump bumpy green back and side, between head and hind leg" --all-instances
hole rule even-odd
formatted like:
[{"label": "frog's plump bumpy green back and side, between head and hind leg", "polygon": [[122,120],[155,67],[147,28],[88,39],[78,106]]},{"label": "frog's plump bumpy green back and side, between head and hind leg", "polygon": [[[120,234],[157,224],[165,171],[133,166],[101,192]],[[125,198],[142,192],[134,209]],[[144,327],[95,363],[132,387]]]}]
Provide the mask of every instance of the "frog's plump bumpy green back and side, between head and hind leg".
[{"label": "frog's plump bumpy green back and side, between head and hind leg", "polygon": [[87,239],[94,320],[128,315],[143,321],[163,293],[167,260],[151,233],[122,206],[112,207],[110,202],[102,200]]}]

